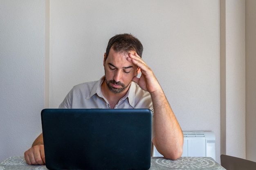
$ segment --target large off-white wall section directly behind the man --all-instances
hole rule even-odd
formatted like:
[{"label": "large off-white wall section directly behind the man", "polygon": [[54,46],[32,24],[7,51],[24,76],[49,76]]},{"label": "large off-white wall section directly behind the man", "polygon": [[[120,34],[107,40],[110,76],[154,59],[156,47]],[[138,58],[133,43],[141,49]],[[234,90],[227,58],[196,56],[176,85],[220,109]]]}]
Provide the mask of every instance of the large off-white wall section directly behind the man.
[{"label": "large off-white wall section directly behind the man", "polygon": [[99,79],[109,38],[132,33],[182,129],[215,132],[219,161],[219,22],[218,1],[50,1],[50,107]]}]

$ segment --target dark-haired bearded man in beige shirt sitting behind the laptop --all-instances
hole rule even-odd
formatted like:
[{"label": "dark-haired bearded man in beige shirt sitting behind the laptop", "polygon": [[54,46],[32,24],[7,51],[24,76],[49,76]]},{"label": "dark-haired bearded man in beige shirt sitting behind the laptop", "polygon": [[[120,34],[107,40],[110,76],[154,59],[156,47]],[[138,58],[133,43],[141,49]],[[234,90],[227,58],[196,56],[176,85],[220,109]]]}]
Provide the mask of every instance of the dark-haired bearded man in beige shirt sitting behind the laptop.
[{"label": "dark-haired bearded man in beige shirt sitting behind the laptop", "polygon": [[[166,159],[178,159],[182,130],[153,71],[141,59],[142,51],[141,42],[130,34],[110,38],[103,60],[105,76],[74,86],[59,108],[149,108],[153,144]],[[43,134],[25,152],[25,160],[45,164]]]}]

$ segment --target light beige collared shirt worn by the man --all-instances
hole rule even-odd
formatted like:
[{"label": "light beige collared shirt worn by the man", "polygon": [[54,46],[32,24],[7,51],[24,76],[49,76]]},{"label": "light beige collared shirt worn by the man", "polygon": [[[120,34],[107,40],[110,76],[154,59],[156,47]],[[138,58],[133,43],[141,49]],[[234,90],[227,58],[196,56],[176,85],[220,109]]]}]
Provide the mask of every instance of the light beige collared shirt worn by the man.
[{"label": "light beige collared shirt worn by the man", "polygon": [[[101,84],[105,76],[98,81],[74,86],[67,94],[59,108],[110,108],[108,100],[101,93]],[[154,109],[150,94],[132,82],[128,92],[115,108],[148,108],[152,110],[152,139],[155,137]]]}]

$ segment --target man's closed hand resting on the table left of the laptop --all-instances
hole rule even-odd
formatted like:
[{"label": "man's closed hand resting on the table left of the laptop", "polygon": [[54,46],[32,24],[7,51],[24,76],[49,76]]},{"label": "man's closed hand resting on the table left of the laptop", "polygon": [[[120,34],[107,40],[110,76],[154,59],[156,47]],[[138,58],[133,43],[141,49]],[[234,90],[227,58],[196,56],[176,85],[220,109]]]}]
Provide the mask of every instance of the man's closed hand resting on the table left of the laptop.
[{"label": "man's closed hand resting on the table left of the laptop", "polygon": [[24,153],[25,160],[29,165],[44,165],[45,150],[44,145],[35,145]]}]

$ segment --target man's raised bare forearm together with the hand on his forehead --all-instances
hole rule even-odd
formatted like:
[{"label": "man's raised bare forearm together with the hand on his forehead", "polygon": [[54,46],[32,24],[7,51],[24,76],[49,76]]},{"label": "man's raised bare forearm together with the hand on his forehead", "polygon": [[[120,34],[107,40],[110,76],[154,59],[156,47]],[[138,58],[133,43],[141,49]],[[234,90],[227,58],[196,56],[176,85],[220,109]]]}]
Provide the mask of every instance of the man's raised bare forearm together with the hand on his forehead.
[{"label": "man's raised bare forearm together with the hand on his forehead", "polygon": [[141,77],[133,77],[143,90],[148,91],[154,107],[155,137],[153,144],[167,159],[178,159],[182,155],[183,134],[180,125],[168,103],[153,71],[137,53],[129,53],[128,61],[137,65]]}]

